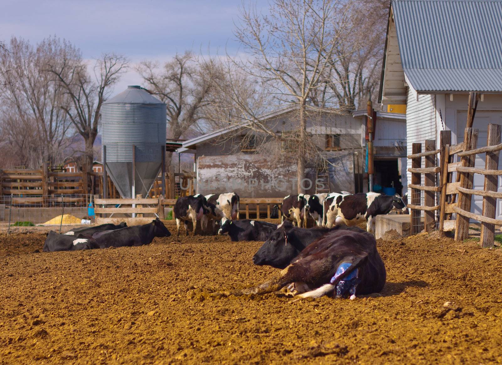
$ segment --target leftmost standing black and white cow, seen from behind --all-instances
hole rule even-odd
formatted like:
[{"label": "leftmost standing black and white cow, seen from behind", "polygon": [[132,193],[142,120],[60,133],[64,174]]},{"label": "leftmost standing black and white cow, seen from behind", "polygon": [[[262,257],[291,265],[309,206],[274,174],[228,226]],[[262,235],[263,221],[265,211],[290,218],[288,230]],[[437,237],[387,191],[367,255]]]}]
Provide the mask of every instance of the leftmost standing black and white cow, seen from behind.
[{"label": "leftmost standing black and white cow, seen from behind", "polygon": [[207,208],[207,200],[201,195],[189,195],[182,196],[176,200],[173,208],[174,217],[176,219],[176,231],[177,235],[180,235],[180,224],[183,222],[185,226],[185,232],[188,236],[188,221],[192,221],[193,228],[192,232],[195,235],[195,229],[197,227],[197,221],[200,221],[202,232],[204,233],[207,226],[208,217],[210,213]]}]

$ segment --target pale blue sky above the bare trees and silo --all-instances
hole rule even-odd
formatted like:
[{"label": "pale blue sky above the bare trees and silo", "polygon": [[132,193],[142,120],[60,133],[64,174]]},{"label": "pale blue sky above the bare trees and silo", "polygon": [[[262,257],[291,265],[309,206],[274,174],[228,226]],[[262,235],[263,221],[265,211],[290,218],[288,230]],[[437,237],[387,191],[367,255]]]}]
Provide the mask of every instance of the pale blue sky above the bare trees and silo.
[{"label": "pale blue sky above the bare trees and silo", "polygon": [[[249,4],[249,1],[246,1]],[[266,11],[267,0],[253,1]],[[3,0],[0,40],[23,37],[36,43],[56,35],[82,50],[85,58],[104,52],[128,56],[133,62],[167,60],[187,49],[234,53],[233,36],[240,0]],[[134,71],[116,86],[141,83]]]}]

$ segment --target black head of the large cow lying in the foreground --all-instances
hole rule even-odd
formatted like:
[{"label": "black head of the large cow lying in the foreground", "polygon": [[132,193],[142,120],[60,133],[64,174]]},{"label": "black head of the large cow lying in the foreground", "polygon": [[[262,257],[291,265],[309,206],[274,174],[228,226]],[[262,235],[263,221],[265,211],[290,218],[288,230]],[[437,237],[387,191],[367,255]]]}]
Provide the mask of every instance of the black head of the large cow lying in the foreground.
[{"label": "black head of the large cow lying in the foreground", "polygon": [[288,266],[303,250],[303,247],[295,247],[293,241],[288,239],[293,229],[290,221],[284,221],[253,256],[253,262],[256,265],[270,265],[280,269]]}]

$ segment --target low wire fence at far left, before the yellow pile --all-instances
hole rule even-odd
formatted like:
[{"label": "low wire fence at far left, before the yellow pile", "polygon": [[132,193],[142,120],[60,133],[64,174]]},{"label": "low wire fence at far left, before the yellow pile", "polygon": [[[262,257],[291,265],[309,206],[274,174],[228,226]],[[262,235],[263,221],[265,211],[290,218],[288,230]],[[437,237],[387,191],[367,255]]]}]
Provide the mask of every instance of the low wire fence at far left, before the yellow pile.
[{"label": "low wire fence at far left, before the yellow pile", "polygon": [[4,195],[0,197],[0,223],[9,227],[89,224],[94,220],[94,204],[89,207],[94,197],[91,194],[30,195],[29,198]]}]

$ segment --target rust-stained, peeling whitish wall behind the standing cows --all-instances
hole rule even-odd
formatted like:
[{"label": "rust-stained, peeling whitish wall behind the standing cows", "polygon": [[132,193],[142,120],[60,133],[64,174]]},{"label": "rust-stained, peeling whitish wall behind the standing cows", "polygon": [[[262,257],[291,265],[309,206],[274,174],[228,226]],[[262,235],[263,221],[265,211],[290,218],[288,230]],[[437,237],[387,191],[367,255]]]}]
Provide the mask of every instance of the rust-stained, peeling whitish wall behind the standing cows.
[{"label": "rust-stained, peeling whitish wall behind the standing cows", "polygon": [[[294,157],[274,163],[269,156],[201,156],[197,159],[197,193],[234,191],[244,198],[277,198],[297,194],[297,162]],[[315,171],[306,169],[315,192]],[[304,187],[308,188],[306,181]]]}]

